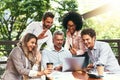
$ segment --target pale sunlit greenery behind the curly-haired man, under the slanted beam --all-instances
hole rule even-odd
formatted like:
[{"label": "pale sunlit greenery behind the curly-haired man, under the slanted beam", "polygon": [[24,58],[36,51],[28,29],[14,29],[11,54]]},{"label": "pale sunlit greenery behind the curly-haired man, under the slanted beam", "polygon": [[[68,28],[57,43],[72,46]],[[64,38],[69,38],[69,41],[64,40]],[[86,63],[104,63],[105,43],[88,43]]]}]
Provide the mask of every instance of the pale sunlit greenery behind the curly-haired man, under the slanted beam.
[{"label": "pale sunlit greenery behind the curly-haired man, under the slanted beam", "polygon": [[120,39],[120,15],[116,14],[104,13],[89,18],[85,20],[84,26],[95,29],[97,39]]}]

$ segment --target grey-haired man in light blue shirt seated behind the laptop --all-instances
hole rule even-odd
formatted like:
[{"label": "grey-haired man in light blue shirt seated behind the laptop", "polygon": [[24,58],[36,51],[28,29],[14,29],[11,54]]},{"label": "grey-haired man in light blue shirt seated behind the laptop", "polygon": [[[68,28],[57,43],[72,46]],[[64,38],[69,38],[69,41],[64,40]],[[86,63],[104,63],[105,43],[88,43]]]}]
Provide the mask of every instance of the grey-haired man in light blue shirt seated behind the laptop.
[{"label": "grey-haired man in light blue shirt seated behind the laptop", "polygon": [[53,63],[53,68],[56,71],[62,71],[63,61],[65,58],[72,57],[68,49],[62,47],[64,42],[64,33],[55,31],[53,34],[53,47],[45,48],[42,51],[42,67],[46,68],[47,63]]}]

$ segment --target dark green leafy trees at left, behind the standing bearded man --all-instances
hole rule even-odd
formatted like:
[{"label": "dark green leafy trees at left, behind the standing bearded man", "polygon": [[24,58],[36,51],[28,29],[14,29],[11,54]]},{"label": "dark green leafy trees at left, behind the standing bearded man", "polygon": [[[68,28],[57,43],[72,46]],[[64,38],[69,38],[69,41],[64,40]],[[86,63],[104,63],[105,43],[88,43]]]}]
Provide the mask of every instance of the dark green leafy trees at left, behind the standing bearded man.
[{"label": "dark green leafy trees at left, behind the standing bearded man", "polygon": [[0,1],[0,40],[19,40],[31,20],[40,21],[48,9],[49,0]]}]

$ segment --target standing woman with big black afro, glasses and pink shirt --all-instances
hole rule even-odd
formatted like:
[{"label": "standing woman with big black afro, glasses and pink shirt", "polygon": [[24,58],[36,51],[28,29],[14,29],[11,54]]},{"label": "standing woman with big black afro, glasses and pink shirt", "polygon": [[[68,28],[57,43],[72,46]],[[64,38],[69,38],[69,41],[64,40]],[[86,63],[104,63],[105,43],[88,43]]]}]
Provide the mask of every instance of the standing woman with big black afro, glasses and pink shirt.
[{"label": "standing woman with big black afro, glasses and pink shirt", "polygon": [[79,13],[70,11],[63,16],[63,27],[66,31],[64,47],[69,49],[73,56],[83,55],[85,46],[81,39],[82,17]]}]

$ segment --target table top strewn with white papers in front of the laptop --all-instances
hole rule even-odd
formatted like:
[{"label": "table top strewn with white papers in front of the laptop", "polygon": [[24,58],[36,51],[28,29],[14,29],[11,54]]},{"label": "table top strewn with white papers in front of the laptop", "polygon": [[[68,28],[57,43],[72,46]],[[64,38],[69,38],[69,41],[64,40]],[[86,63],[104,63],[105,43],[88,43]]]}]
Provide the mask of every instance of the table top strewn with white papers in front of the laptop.
[{"label": "table top strewn with white papers in front of the laptop", "polygon": [[50,80],[119,80],[119,75],[107,74],[102,78],[90,78],[86,72],[74,71],[74,72],[53,72],[49,77],[53,77]]}]

